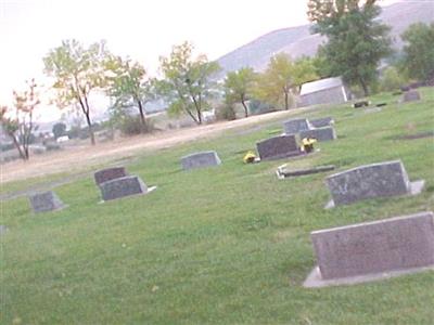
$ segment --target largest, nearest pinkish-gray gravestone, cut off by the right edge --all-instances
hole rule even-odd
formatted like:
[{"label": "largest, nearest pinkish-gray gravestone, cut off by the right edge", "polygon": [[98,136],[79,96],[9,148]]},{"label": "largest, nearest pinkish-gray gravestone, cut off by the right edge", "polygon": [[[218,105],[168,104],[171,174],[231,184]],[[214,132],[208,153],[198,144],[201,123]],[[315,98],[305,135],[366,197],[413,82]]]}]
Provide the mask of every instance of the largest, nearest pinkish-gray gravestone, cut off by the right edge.
[{"label": "largest, nearest pinkish-gray gravestone, cut off by the right edge", "polygon": [[384,272],[398,275],[434,266],[433,212],[321,230],[310,236],[319,266],[309,276],[310,286],[331,280],[337,280],[331,284],[365,282],[385,277]]}]

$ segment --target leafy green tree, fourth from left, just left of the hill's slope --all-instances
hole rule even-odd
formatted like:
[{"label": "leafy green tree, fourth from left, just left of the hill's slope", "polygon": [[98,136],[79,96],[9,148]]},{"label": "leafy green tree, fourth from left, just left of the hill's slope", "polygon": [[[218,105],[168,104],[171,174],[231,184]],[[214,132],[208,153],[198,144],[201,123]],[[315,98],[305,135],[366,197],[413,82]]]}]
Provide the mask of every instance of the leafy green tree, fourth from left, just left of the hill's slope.
[{"label": "leafy green tree, fourth from left, just left of the hill's slope", "polygon": [[192,57],[189,42],[175,46],[169,57],[159,57],[165,79],[158,82],[161,94],[170,103],[169,112],[188,114],[197,125],[202,112],[209,107],[208,101],[217,87],[212,76],[219,69],[217,62],[208,62],[206,55]]}]

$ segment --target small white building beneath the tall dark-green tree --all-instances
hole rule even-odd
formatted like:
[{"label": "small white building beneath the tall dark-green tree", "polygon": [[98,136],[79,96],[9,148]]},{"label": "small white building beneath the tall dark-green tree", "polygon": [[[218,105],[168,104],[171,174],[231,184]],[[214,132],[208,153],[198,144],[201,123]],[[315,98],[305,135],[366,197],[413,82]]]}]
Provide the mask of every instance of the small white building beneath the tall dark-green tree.
[{"label": "small white building beneath the tall dark-green tree", "polygon": [[327,78],[302,84],[302,106],[341,104],[350,100],[350,93],[341,77]]}]

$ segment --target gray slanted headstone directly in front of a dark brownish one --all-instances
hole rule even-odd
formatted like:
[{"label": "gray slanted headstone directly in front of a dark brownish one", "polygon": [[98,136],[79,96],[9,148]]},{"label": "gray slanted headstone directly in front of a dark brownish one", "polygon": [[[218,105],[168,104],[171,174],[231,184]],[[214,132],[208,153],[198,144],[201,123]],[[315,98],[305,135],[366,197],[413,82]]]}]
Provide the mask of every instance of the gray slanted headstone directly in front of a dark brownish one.
[{"label": "gray slanted headstone directly in front of a dark brownish one", "polygon": [[148,193],[146,184],[136,176],[114,179],[100,184],[103,200]]}]

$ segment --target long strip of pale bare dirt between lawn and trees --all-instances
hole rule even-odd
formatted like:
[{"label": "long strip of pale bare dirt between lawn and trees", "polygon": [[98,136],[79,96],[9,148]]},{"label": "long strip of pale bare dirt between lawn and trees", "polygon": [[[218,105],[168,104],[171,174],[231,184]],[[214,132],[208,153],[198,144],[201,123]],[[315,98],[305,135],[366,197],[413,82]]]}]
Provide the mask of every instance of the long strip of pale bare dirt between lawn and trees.
[{"label": "long strip of pale bare dirt between lawn and trees", "polygon": [[13,161],[1,166],[1,183],[16,180],[42,177],[64,171],[80,172],[84,168],[101,166],[126,157],[133,157],[145,151],[168,148],[194,140],[217,136],[225,131],[244,128],[246,126],[265,121],[279,120],[289,116],[303,114],[312,108],[298,108],[296,110],[275,112],[252,116],[233,121],[217,122],[189,129],[170,130],[156,134],[138,135],[117,139],[113,142],[100,143],[94,147],[67,148],[41,156],[34,156],[27,162]]}]

